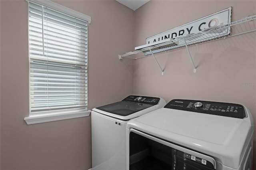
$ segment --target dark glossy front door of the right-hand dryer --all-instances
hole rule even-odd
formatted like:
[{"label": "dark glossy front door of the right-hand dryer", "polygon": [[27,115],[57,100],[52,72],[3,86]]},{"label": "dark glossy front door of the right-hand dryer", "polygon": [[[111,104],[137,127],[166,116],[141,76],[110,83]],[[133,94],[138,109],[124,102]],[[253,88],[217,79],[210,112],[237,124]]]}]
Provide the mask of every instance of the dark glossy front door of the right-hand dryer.
[{"label": "dark glossy front door of the right-hand dryer", "polygon": [[130,170],[214,170],[207,155],[172,144],[135,129],[129,134]]}]

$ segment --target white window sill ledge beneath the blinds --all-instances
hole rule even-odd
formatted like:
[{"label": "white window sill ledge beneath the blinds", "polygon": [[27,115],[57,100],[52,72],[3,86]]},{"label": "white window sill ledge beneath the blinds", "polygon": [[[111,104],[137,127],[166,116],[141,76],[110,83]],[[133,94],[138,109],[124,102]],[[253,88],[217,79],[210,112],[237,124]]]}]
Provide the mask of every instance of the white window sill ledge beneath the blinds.
[{"label": "white window sill ledge beneath the blinds", "polygon": [[52,122],[52,121],[60,121],[65,119],[73,119],[78,117],[87,117],[89,116],[91,111],[84,111],[84,112],[70,112],[70,113],[57,113],[57,114],[48,114],[48,115],[36,115],[36,116],[30,116],[25,117],[24,121],[28,125],[37,124],[37,123],[46,123],[46,122]]}]

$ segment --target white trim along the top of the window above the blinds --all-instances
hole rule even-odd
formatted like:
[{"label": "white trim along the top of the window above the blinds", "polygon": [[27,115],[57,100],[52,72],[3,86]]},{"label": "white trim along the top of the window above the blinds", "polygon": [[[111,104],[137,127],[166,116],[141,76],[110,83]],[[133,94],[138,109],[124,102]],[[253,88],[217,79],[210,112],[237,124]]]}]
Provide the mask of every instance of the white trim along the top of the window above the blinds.
[{"label": "white trim along the top of the window above the blinds", "polygon": [[72,16],[75,16],[77,18],[83,19],[88,21],[88,23],[91,23],[91,17],[86,15],[86,14],[82,14],[80,12],[77,12],[75,10],[72,10],[70,8],[67,8],[66,6],[62,6],[60,4],[56,4],[55,2],[52,2],[50,0],[26,0],[26,1],[32,1],[32,2],[36,2],[38,4],[44,5],[44,6],[48,6],[50,8],[53,8],[55,10],[64,12],[66,14],[70,14]]}]

